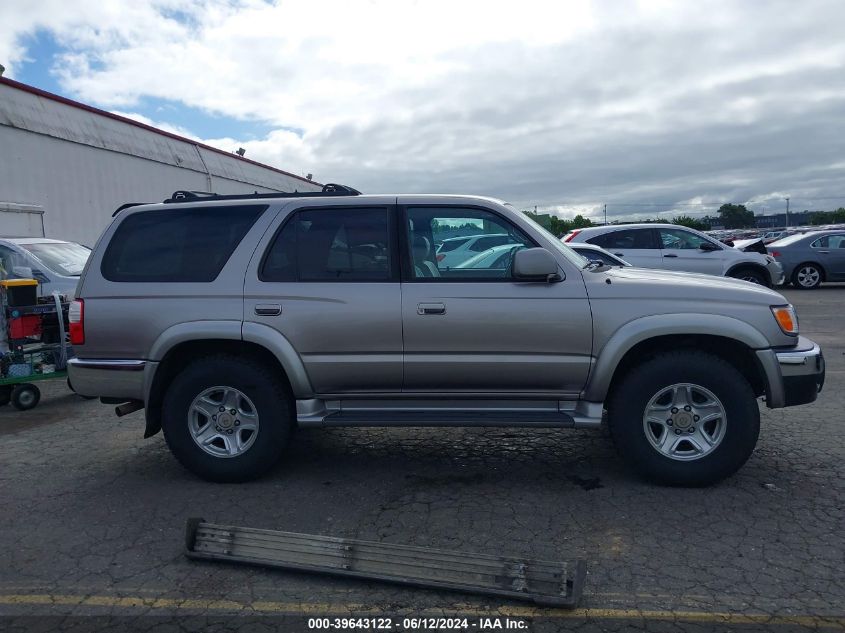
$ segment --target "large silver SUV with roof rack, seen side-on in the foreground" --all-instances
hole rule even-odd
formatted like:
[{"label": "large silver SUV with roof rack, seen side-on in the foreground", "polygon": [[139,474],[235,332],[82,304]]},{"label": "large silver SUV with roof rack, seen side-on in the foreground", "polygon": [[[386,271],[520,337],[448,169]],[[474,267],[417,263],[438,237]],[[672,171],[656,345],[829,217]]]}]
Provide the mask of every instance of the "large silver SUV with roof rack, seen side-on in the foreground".
[{"label": "large silver SUV with roof rack, seen side-on in the foreground", "polygon": [[[508,236],[441,268],[433,244]],[[769,407],[816,399],[819,347],[783,296],[600,266],[469,196],[195,197],[122,209],[72,304],[74,388],[145,409],[192,472],[244,481],[295,427],[593,428],[670,485],[735,472]]]}]

